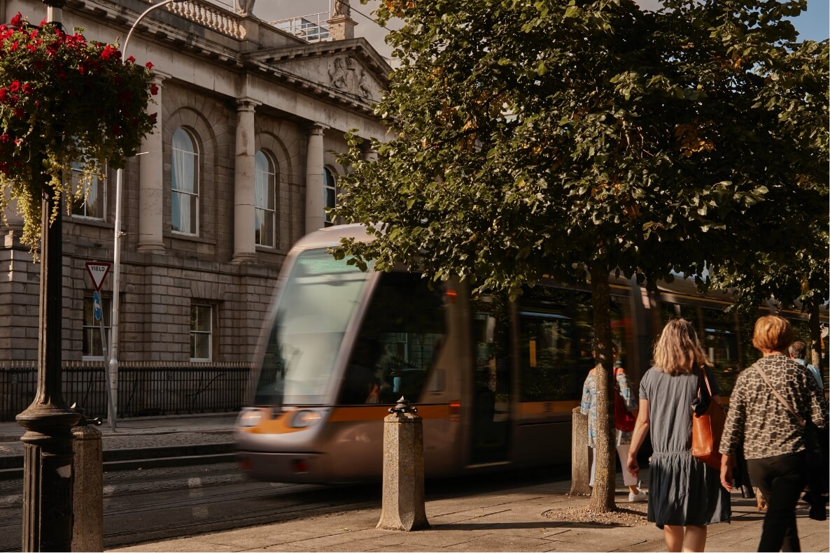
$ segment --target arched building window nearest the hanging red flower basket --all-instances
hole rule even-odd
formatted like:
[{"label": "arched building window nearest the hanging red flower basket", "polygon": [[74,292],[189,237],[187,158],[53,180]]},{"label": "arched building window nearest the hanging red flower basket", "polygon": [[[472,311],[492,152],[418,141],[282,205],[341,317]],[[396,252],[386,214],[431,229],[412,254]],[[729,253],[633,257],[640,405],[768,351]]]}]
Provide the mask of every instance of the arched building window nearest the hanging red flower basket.
[{"label": "arched building window nearest the hanging red flower basket", "polygon": [[199,218],[199,154],[196,141],[179,127],[173,133],[171,193],[171,226],[173,232],[198,234]]}]

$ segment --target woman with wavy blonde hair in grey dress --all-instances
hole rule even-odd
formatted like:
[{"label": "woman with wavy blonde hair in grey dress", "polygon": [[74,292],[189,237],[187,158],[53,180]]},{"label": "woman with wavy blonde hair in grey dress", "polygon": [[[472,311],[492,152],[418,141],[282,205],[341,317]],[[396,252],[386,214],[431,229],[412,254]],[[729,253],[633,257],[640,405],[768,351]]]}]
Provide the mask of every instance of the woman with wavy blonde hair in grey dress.
[{"label": "woman with wavy blonde hair in grey dress", "polygon": [[628,471],[635,476],[637,450],[651,432],[648,521],[662,528],[668,551],[703,551],[706,525],[730,520],[729,493],[715,468],[691,456],[691,402],[698,371],[706,370],[712,399],[720,403],[715,379],[694,327],[671,319],[654,346],[654,366],[640,381],[640,411],[634,426]]}]

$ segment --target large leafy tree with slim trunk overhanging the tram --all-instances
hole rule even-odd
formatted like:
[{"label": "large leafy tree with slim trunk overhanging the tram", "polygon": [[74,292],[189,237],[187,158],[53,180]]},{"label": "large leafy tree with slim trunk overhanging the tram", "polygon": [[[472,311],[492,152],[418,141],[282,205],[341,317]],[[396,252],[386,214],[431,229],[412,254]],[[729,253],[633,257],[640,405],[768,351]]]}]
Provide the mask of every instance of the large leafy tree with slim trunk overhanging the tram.
[{"label": "large leafy tree with slim trunk overhanging the tram", "polygon": [[[758,104],[805,2],[388,0],[400,66],[377,113],[393,138],[360,161],[333,215],[374,240],[334,255],[515,298],[544,274],[592,287],[598,469],[613,509],[609,274],[653,287],[720,260],[789,148]],[[789,182],[783,186],[790,186]],[[378,224],[373,221],[382,221]]]}]

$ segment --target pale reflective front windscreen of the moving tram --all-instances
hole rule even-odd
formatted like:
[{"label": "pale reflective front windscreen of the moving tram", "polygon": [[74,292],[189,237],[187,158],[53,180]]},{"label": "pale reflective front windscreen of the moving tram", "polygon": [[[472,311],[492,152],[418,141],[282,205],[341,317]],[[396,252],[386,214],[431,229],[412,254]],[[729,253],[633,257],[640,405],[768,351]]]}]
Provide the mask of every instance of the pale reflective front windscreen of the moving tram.
[{"label": "pale reflective front windscreen of the moving tram", "polygon": [[297,256],[281,292],[256,386],[259,405],[322,405],[369,272],[325,249]]}]

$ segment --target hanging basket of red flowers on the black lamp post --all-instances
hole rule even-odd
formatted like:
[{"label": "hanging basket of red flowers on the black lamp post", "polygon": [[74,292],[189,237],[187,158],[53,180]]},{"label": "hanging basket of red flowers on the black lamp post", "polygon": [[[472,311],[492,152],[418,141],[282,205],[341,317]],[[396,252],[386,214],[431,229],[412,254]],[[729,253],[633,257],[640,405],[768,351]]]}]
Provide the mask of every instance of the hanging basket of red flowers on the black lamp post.
[{"label": "hanging basket of red flowers on the black lamp post", "polygon": [[[81,31],[33,27],[20,13],[0,25],[0,211],[17,200],[21,241],[32,248],[43,192],[81,199],[85,182],[103,178],[105,165],[123,167],[155,123],[146,112],[158,93],[152,64],[122,61],[117,45],[86,41]],[[70,163],[81,172],[74,185]]]}]

